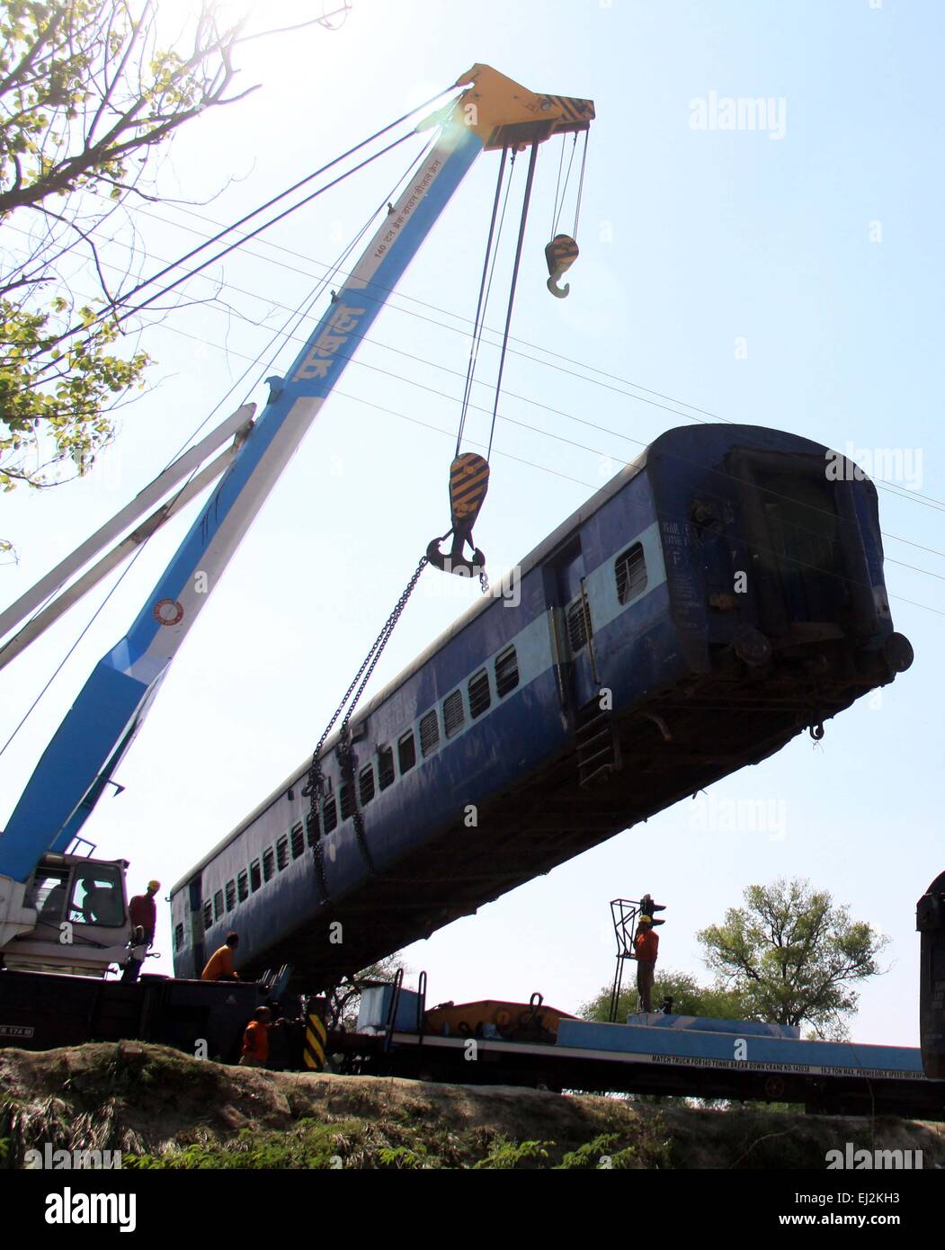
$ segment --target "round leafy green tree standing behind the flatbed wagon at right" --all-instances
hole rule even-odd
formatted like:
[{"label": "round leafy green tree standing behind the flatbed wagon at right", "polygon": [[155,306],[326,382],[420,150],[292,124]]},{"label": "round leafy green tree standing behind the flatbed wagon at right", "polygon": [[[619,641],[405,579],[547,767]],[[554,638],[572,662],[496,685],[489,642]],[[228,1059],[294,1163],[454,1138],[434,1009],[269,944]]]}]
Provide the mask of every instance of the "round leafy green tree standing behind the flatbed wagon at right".
[{"label": "round leafy green tree standing behind the flatbed wagon at right", "polygon": [[809,881],[750,885],[744,896],[745,908],[730,908],[698,938],[720,984],[750,1006],[745,1019],[806,1021],[820,1038],[846,1036],[842,1016],[859,1001],[852,984],[882,971],[889,939]]}]

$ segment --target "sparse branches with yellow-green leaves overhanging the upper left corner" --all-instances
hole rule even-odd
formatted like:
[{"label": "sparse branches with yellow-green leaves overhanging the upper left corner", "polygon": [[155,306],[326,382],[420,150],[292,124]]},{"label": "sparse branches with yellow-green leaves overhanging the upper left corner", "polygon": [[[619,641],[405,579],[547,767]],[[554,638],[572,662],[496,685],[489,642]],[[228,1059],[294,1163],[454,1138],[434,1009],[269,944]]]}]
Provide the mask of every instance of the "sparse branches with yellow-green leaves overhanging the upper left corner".
[{"label": "sparse branches with yellow-green leaves overhanging the upper left corner", "polygon": [[168,31],[155,0],[0,0],[0,488],[81,474],[111,440],[148,356],[119,350],[134,278],[100,249],[155,199],[154,152],[248,94],[238,41],[211,2]]}]

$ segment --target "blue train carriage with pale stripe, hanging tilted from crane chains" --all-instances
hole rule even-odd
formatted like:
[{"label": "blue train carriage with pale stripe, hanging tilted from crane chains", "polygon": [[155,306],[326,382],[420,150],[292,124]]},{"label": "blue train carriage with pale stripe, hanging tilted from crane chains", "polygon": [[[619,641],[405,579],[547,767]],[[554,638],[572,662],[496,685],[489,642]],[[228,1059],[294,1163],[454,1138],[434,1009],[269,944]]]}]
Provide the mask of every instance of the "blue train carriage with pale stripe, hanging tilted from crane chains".
[{"label": "blue train carriage with pale stripe, hanging tilted from crane chains", "polygon": [[[876,491],[744,425],[669,430],[172,891],[175,969],[228,929],[308,990],[778,751],[911,662]],[[354,820],[362,819],[362,836]]]}]

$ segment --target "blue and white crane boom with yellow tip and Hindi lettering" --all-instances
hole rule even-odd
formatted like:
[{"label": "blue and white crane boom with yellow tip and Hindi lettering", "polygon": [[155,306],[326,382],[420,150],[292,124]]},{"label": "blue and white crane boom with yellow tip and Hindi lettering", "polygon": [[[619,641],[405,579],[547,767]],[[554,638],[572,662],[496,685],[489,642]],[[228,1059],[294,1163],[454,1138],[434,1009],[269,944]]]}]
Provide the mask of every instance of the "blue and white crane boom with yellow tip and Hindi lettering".
[{"label": "blue and white crane boom with yellow tip and Hindi lettering", "polygon": [[[258,511],[319,415],[360,340],[476,156],[586,130],[589,100],[536,95],[485,65],[418,129],[432,148],[332,296],[285,379],[191,525],[125,636],[98,662],[41,756],[0,835],[0,948],[29,928],[22,888],[44,852],[65,852],[112,776]],[[6,881],[4,881],[6,879]]]}]

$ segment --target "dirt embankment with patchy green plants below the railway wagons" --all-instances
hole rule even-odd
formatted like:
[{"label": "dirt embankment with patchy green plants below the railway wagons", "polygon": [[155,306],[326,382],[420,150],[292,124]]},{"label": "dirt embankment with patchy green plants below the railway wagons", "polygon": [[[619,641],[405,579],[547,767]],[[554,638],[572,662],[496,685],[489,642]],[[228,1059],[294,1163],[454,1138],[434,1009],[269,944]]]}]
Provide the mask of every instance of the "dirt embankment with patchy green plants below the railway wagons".
[{"label": "dirt embankment with patchy green plants below the railway wagons", "polygon": [[945,1165],[941,1124],[265,1072],[140,1042],[0,1050],[0,1165],[12,1168],[49,1142],[151,1168],[824,1169],[848,1141]]}]

